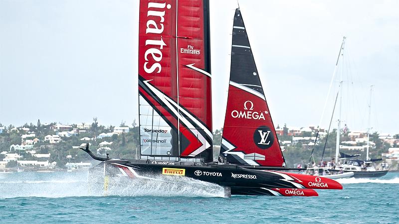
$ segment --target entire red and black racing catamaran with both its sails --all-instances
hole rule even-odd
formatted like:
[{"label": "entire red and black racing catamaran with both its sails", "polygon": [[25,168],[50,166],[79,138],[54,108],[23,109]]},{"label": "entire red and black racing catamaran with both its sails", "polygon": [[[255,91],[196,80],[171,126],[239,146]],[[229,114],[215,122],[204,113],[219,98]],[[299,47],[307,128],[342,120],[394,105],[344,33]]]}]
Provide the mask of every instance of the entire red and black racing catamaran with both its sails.
[{"label": "entire red and black racing catamaran with both its sails", "polygon": [[[95,156],[104,175],[162,181],[194,178],[227,196],[318,196],[338,182],[284,172],[274,125],[239,8],[219,161],[213,161],[208,0],[141,0],[139,160]],[[107,167],[107,169],[105,169]],[[108,169],[109,168],[109,169]]]}]

